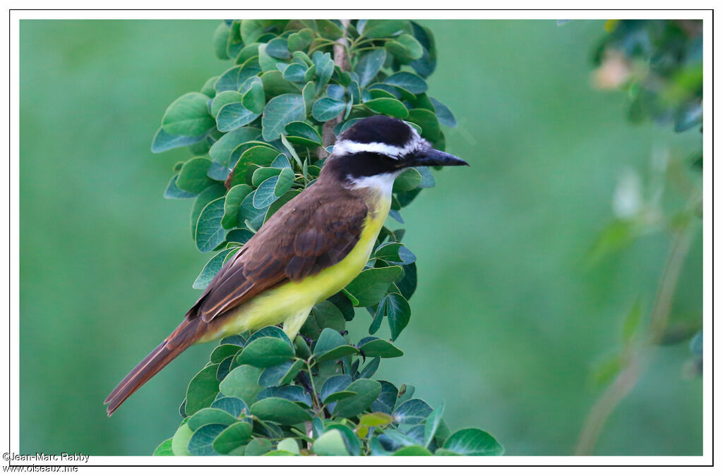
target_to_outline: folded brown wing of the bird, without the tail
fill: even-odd
[[[316,183],[278,210],[223,265],[187,319],[208,322],[265,290],[336,264],[359,241],[367,205],[341,187]]]

